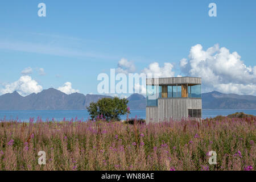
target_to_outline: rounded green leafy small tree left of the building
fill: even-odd
[[[87,107],[87,110],[92,119],[102,117],[106,119],[106,121],[120,121],[120,115],[130,113],[130,110],[127,109],[128,102],[129,101],[126,98],[102,98],[96,103],[91,102],[90,106]]]

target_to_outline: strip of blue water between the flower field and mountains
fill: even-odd
[[[216,117],[217,115],[228,115],[236,112],[243,112],[246,114],[256,115],[256,110],[243,110],[243,109],[203,109],[202,118]],[[146,110],[131,110],[129,118],[145,118]],[[89,118],[89,113],[86,110],[0,110],[0,119],[20,119],[21,121],[29,121],[29,118],[42,118],[46,121],[48,118],[51,120],[54,118],[56,121],[61,121],[64,117],[66,120]],[[121,119],[126,119],[126,115],[123,115]]]

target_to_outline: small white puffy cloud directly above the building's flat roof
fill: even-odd
[[[148,68],[144,68],[142,73],[150,77],[174,77],[174,71],[172,71],[174,65],[171,63],[164,63],[163,67],[159,66],[159,63],[151,63]]]

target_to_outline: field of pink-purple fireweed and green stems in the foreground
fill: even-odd
[[[64,119],[65,120],[65,119]],[[255,118],[0,122],[1,170],[255,170]],[[217,152],[210,165],[209,151]],[[46,165],[38,152],[46,152]]]

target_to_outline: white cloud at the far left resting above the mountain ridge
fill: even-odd
[[[38,93],[43,90],[42,86],[28,75],[22,76],[18,81],[10,84],[5,84],[4,88],[0,90],[1,94],[18,92],[22,96],[27,96],[31,93]]]

